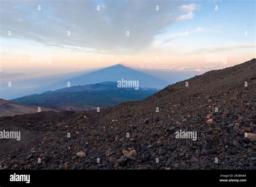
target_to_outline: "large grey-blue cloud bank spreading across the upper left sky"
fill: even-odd
[[[154,35],[176,21],[192,19],[199,9],[197,4],[167,0],[1,3],[2,37],[11,31],[11,37],[43,46],[104,54],[142,51]]]

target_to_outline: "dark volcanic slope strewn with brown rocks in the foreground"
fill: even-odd
[[[0,140],[0,169],[256,169],[255,107],[252,59],[99,112],[2,117],[21,140]]]

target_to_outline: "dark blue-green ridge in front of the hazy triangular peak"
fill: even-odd
[[[96,107],[113,106],[128,100],[144,99],[156,91],[158,89],[118,88],[117,82],[103,82],[46,91],[11,101],[52,107],[57,110],[86,111],[96,109]]]

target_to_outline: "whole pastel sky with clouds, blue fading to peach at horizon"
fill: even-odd
[[[255,57],[254,0],[0,2],[8,78],[118,63],[203,73]]]

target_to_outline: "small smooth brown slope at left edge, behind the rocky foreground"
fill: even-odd
[[[55,111],[57,110],[41,107],[41,112],[43,111]],[[0,117],[1,116],[15,116],[22,115],[26,113],[36,113],[38,112],[38,106],[31,105],[21,105],[8,100],[0,99]]]

